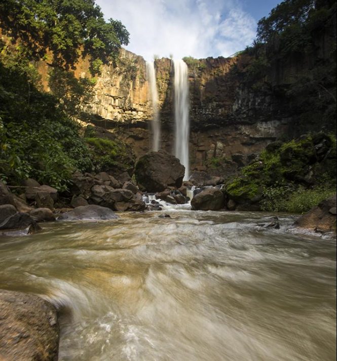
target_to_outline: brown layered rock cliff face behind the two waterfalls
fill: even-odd
[[[287,132],[288,119],[274,117],[268,92],[242,87],[233,66],[236,58],[194,60],[189,65],[190,158],[192,170],[213,173],[246,164],[268,143]],[[173,66],[156,60],[162,124],[162,148],[174,147]],[[137,156],[151,149],[152,105],[148,99],[145,61],[123,50],[117,67],[106,66],[86,110],[95,125],[130,144]]]

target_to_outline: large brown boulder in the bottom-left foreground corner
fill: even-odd
[[[56,361],[57,310],[41,297],[0,290],[0,359]]]

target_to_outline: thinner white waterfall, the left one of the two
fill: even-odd
[[[146,62],[146,75],[150,88],[150,96],[153,106],[153,121],[152,121],[152,133],[153,142],[152,150],[157,152],[160,147],[160,123],[159,123],[159,111],[158,111],[158,90],[156,82],[156,70],[154,62]]]

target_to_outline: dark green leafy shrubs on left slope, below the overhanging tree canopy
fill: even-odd
[[[64,190],[73,170],[90,170],[89,150],[58,99],[35,84],[39,74],[24,52],[0,53],[0,177],[33,177]]]

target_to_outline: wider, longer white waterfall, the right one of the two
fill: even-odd
[[[190,177],[189,162],[189,78],[188,66],[179,59],[174,62],[175,156],[185,166],[184,180]]]

